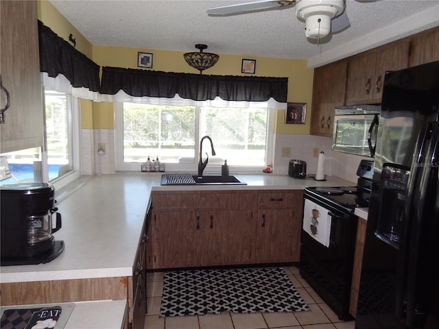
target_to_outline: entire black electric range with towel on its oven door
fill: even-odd
[[[361,160],[357,186],[309,187],[303,195],[300,275],[341,320],[349,313],[357,207],[367,207],[373,162]],[[323,239],[324,237],[324,239]]]

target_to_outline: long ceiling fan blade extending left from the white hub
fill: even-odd
[[[241,14],[244,12],[253,12],[254,10],[264,10],[276,7],[285,7],[296,3],[296,0],[261,0],[237,5],[224,5],[222,7],[209,8],[207,14],[213,16],[226,16],[230,14]]]

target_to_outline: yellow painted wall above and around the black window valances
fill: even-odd
[[[91,45],[67,19],[62,16],[47,0],[38,0],[38,19],[50,27],[58,36],[68,40],[69,34],[76,38],[76,49],[84,53],[100,66],[117,66],[131,69],[141,69],[137,66],[139,51],[152,53],[152,70],[180,73],[198,73],[183,59],[183,53],[198,51],[167,51],[160,49],[141,49],[128,47],[109,47]],[[206,52],[214,49],[206,49]],[[285,111],[276,111],[275,132],[279,134],[309,134],[311,120],[311,99],[313,86],[313,69],[307,68],[306,60],[283,58],[265,58],[257,56],[226,55],[219,53],[219,61],[204,74],[211,75],[246,75],[241,73],[241,60],[250,58],[256,60],[256,73],[261,77],[288,77],[287,101],[307,103],[305,125],[286,125]],[[251,76],[251,75],[249,75]],[[82,102],[81,104],[83,104]],[[82,111],[82,127],[95,129],[114,129],[114,112],[112,103],[93,103],[86,105]]]

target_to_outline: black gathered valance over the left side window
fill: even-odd
[[[62,74],[74,88],[84,87],[93,92],[99,90],[99,65],[41,21],[38,21],[38,39],[41,72],[46,72],[49,77]]]

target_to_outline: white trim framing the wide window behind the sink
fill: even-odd
[[[141,162],[123,162],[123,103],[114,103],[115,109],[115,169],[116,171],[140,171]],[[268,109],[267,117],[267,138],[265,141],[265,159],[266,164],[273,163],[274,157],[274,123],[276,110]],[[195,117],[195,136],[199,134],[200,111],[196,111]],[[198,154],[200,154],[200,139],[198,136],[195,140],[195,163],[166,163],[165,171],[169,172],[197,172],[198,171]],[[215,141],[214,141],[215,143]],[[152,155],[154,156],[154,155]],[[146,159],[145,159],[146,161]],[[230,166],[230,171],[234,173],[259,173],[261,166]],[[204,173],[220,173],[220,166],[208,166]]]

